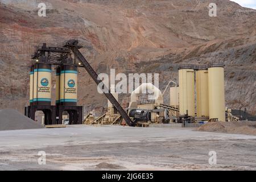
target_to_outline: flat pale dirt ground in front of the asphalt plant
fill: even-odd
[[[189,128],[69,126],[0,131],[1,170],[255,170],[256,136]],[[39,151],[46,164],[39,165]],[[216,164],[209,164],[215,151]]]

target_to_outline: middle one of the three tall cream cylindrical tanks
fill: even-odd
[[[209,89],[207,66],[200,65],[196,71],[196,115],[209,117]]]

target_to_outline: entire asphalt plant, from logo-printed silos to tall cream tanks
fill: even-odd
[[[122,119],[129,126],[144,123],[170,123],[195,121],[225,121],[224,64],[222,62],[208,65],[179,65],[179,82],[170,88],[170,104],[164,104],[163,94],[151,83],[142,83],[131,93],[127,111],[118,103],[115,85],[109,92],[108,111],[100,117],[92,112],[83,118],[82,106],[77,106],[77,68],[83,67],[96,84],[97,73],[90,67],[79,49],[77,40],[69,40],[63,47],[47,47],[46,43],[38,47],[32,56],[30,68],[30,106],[26,106],[25,115],[35,120],[35,112],[44,113],[44,124],[63,123],[63,111],[69,115],[69,124],[121,124]],[[73,56],[72,56],[73,53]],[[78,61],[77,61],[78,60]],[[51,105],[51,72],[56,69],[56,101]],[[104,87],[106,88],[106,86]],[[138,93],[151,90],[154,98],[138,100]]]

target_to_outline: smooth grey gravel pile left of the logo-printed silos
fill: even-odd
[[[14,109],[0,110],[0,130],[42,129],[43,125],[33,121]]]

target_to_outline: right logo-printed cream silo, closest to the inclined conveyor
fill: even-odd
[[[61,65],[60,69],[60,105],[76,106],[77,104],[77,67]]]

